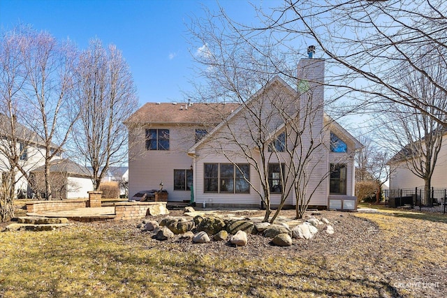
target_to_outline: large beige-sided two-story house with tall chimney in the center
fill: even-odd
[[[143,105],[126,121],[129,198],[163,186],[168,201],[193,195],[206,206],[261,207],[261,179],[268,177],[272,205],[279,204],[286,186],[294,187],[295,177],[281,185],[286,165],[302,159],[287,148],[300,140],[301,149],[312,148],[303,165],[309,204],[355,209],[353,153],[362,144],[323,112],[324,61],[302,59],[298,71],[298,91],[274,77],[242,104]],[[295,192],[285,200],[295,205]]]

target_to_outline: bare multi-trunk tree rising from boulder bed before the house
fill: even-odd
[[[223,118],[215,128],[219,131],[203,147],[224,154],[240,172],[241,161],[254,168],[260,185],[246,181],[265,205],[264,221],[269,221],[272,202],[278,208],[271,222],[294,192],[297,217],[302,217],[312,195],[330,174],[325,162],[321,174],[321,156],[328,151],[328,127],[323,124],[323,75],[296,75],[298,56],[282,52],[284,49],[268,36],[250,36],[223,11],[193,22],[191,33],[202,45],[194,53],[201,66],[198,76],[209,83],[196,85],[196,100],[240,103],[237,120]],[[322,67],[323,61],[319,62],[316,68]],[[324,66],[321,69],[324,71]],[[300,92],[290,87],[298,82],[305,85]],[[279,147],[275,145],[278,142]],[[269,174],[272,164],[277,167],[276,177]],[[273,198],[272,188],[277,187],[279,191]]]

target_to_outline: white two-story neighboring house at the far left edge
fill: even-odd
[[[8,170],[10,166],[8,159],[3,154],[9,150],[8,146],[8,135],[10,135],[10,119],[8,119],[4,114],[0,114],[0,172],[3,174]],[[16,135],[17,140],[17,151],[20,152],[20,163],[24,170],[29,174],[32,170],[35,170],[41,165],[45,164],[45,147],[44,142],[41,137],[38,137],[36,133],[29,130],[22,124],[16,123]],[[51,143],[52,149],[57,149],[57,145]],[[59,158],[59,155],[57,156]],[[17,170],[16,173],[15,190],[20,196],[31,197],[31,188],[29,187],[27,179],[23,176],[21,172]]]

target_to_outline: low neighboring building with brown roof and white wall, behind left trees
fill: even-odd
[[[36,188],[44,193],[44,166],[32,170],[31,179]],[[88,192],[94,189],[87,169],[68,159],[51,162],[50,185],[54,199],[88,198]]]

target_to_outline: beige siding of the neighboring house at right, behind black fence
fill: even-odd
[[[390,177],[390,189],[416,188],[424,186],[424,180],[410,170],[411,165],[399,163]],[[447,188],[447,135],[442,139],[437,163],[432,176],[432,187]]]

